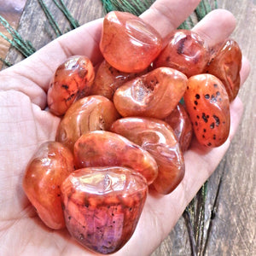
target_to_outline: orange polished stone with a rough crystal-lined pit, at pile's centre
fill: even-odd
[[[165,118],[177,106],[187,87],[179,71],[160,67],[126,82],[113,95],[115,108],[123,117]]]

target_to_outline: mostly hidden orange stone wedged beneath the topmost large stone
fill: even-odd
[[[146,73],[146,71],[143,73]],[[104,60],[97,69],[94,83],[91,86],[91,94],[102,95],[112,100],[115,90],[125,84],[126,81],[134,79],[143,73],[120,72]]]

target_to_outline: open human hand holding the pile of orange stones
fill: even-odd
[[[199,1],[158,0],[142,18],[163,37],[195,9]],[[152,22],[152,20],[156,20]],[[48,111],[46,91],[55,68],[70,55],[87,55],[96,65],[102,61],[98,49],[102,20],[90,22],[57,38],[37,53],[0,73],[0,254],[89,255],[67,230],[49,230],[34,211],[22,189],[26,164],[44,141],[54,140],[60,119]],[[235,19],[215,10],[195,26],[208,44],[230,36]],[[241,83],[249,66],[243,62]],[[117,254],[148,255],[154,251],[182,215],[184,208],[206,181],[230,145],[241,119],[242,105],[236,98],[230,106],[230,137],[219,148],[206,149],[196,141],[184,154],[186,174],[170,195],[148,195],[137,230]]]

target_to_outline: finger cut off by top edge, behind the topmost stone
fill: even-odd
[[[160,0],[152,4],[140,17],[160,32],[162,38],[176,29],[193,12],[199,0]],[[152,22],[154,21],[154,22]]]

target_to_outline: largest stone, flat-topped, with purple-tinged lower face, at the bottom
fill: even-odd
[[[148,195],[146,179],[125,167],[73,172],[61,186],[67,230],[96,253],[114,253],[131,238]]]

